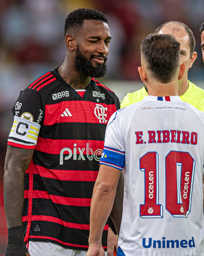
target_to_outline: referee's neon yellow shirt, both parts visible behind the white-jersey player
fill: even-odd
[[[121,101],[120,107],[124,108],[130,104],[138,102],[142,100],[145,96],[147,96],[147,91],[143,86],[143,88],[135,92],[127,93],[127,95]],[[189,104],[192,104],[197,109],[204,112],[204,90],[196,86],[194,83],[190,82],[189,80],[188,80],[188,89],[183,95],[180,96],[180,98],[183,101],[188,102]]]

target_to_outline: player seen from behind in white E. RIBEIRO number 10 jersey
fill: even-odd
[[[204,255],[204,113],[178,96],[180,43],[150,34],[141,44],[148,95],[109,119],[94,186],[87,256],[103,256],[102,231],[120,172],[125,186],[118,256]]]

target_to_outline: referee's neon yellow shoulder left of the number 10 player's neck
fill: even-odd
[[[145,90],[145,87],[143,86],[141,89],[127,93],[127,95],[123,98],[123,100],[120,103],[121,108],[124,108],[128,105],[131,105],[135,102],[138,102],[142,100],[147,95],[147,91]]]

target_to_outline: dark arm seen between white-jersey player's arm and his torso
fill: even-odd
[[[113,207],[110,213],[110,217],[113,221],[113,224],[116,228],[118,235],[120,232],[120,224],[122,220],[123,194],[124,194],[124,175],[123,175],[123,172],[121,172],[120,178],[118,180],[116,196],[115,196]]]

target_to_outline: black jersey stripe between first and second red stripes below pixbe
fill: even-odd
[[[33,174],[33,190],[52,191],[56,196],[92,198],[94,184],[93,181],[56,180]]]

